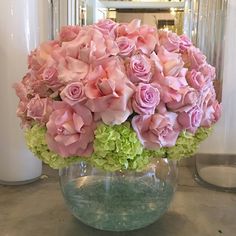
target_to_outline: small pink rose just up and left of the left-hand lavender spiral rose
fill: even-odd
[[[46,67],[42,74],[43,81],[52,90],[58,90],[63,84],[58,79],[58,72],[55,66]]]

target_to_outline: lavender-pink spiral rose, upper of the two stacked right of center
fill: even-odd
[[[132,56],[128,75],[133,83],[149,83],[153,75],[151,60],[142,54]]]

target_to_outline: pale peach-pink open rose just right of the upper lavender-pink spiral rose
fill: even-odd
[[[174,52],[168,52],[163,46],[159,47],[157,56],[163,65],[165,76],[178,76],[183,69],[184,62],[181,55]]]

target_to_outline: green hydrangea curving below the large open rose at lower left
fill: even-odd
[[[48,149],[46,139],[46,127],[38,124],[25,132],[25,140],[31,152],[44,163],[53,169],[60,169],[69,166],[71,163],[79,160],[79,157],[63,158],[55,152]]]

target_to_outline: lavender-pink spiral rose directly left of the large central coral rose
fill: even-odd
[[[81,82],[72,82],[61,91],[61,99],[73,106],[76,103],[85,102],[84,85]]]

